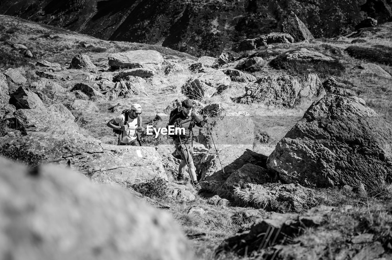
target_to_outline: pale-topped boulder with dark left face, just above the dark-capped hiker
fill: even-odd
[[[190,77],[182,86],[181,91],[191,99],[203,99],[225,90],[230,85],[230,77],[220,70],[198,73]]]

